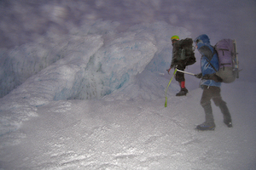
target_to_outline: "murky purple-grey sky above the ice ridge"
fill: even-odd
[[[47,31],[68,34],[72,28],[100,19],[118,21],[119,31],[137,23],[163,20],[188,29],[193,38],[206,33],[212,45],[219,39],[233,38],[238,44],[241,67],[256,64],[254,0],[2,0],[0,48],[33,41]],[[247,76],[255,71],[253,65],[243,71]]]

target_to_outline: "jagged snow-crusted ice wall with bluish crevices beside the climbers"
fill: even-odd
[[[97,20],[66,37],[49,32],[37,42],[2,49],[1,94],[6,95],[0,99],[0,135],[15,131],[37,116],[38,106],[54,100],[162,98],[166,78],[160,81],[152,74],[170,66],[170,37],[189,37],[189,31],[166,22],[139,24],[125,32],[115,31],[117,26]],[[150,86],[159,88],[148,94]]]

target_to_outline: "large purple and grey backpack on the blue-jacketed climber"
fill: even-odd
[[[234,82],[239,77],[236,40],[222,39],[214,46],[218,54],[219,70],[216,72],[223,82]]]

